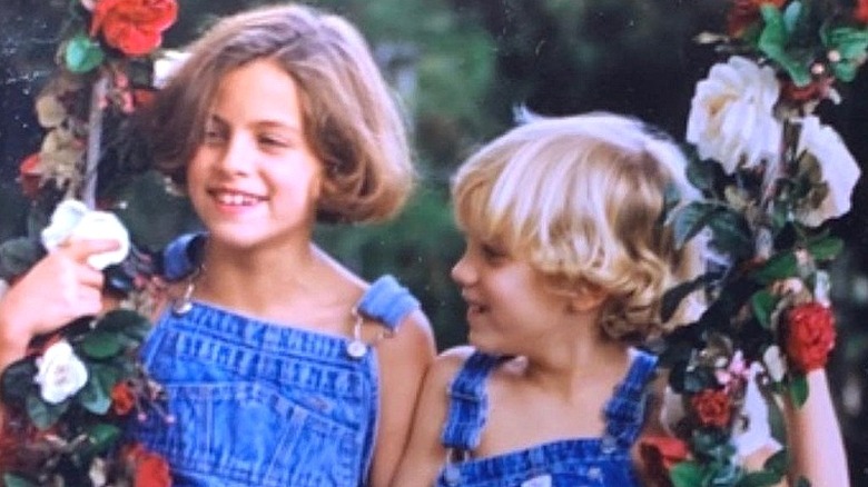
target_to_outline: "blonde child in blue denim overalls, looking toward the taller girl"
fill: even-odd
[[[679,149],[606,113],[533,119],[458,169],[466,250],[452,277],[472,346],[443,352],[428,371],[393,486],[640,481],[637,440],[664,434],[649,396],[665,380],[631,344],[702,309],[691,298],[671,322],[659,319],[663,292],[701,270],[701,241],[677,249],[659,225],[671,187],[682,203],[696,196]],[[828,390],[811,387],[830,411]],[[822,421],[808,423],[837,428],[834,415]],[[739,453],[761,466],[770,441],[752,444]],[[840,449],[819,457],[844,461]],[[798,467],[813,485],[845,485]]]

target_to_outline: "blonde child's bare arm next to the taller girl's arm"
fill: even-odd
[[[437,357],[425,376],[410,443],[392,487],[431,486],[445,464],[446,449],[441,443],[441,433],[448,409],[448,385],[470,355],[466,347],[457,350],[448,350]]]

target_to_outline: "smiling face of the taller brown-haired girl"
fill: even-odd
[[[306,242],[323,170],[304,137],[295,81],[267,60],[228,72],[187,178],[211,238],[245,248]]]

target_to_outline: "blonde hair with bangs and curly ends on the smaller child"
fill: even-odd
[[[641,341],[696,318],[698,297],[662,322],[662,296],[702,270],[701,239],[675,248],[667,193],[697,198],[685,160],[633,118],[586,113],[527,120],[466,161],[453,180],[462,229],[525,259],[555,290],[596,289],[602,327]]]

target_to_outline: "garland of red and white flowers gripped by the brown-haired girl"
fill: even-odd
[[[112,310],[37,337],[10,365],[0,389],[0,473],[6,486],[168,486],[166,461],[125,438],[130,418],[161,413],[158,385],[138,362],[150,321],[157,262],[98,197],[112,179],[107,133],[147,103],[169,63],[158,48],[176,0],[70,0],[58,72],[36,101],[46,135],[20,166],[32,200],[27,235],[0,245],[0,279],[14,282],[47,251],[75,236],[110,238],[117,252],[91,256],[103,269]],[[170,62],[170,61],[169,61]],[[114,168],[115,172],[107,168]],[[106,191],[100,191],[100,193]]]

